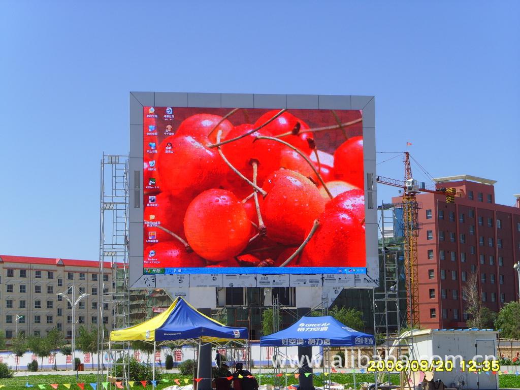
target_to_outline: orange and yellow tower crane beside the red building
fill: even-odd
[[[454,202],[454,188],[439,188],[427,186],[415,180],[412,176],[412,168],[410,166],[410,154],[405,154],[405,180],[391,179],[383,176],[376,176],[376,181],[388,186],[401,188],[402,192],[402,219],[403,231],[405,239],[405,271],[407,281],[407,310],[409,326],[413,328],[419,324],[419,274],[418,274],[418,258],[417,258],[417,237],[419,236],[418,210],[419,206],[415,196],[420,192],[430,192],[436,194],[444,194],[446,203]]]

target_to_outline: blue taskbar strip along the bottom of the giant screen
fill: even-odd
[[[203,267],[203,268],[145,268],[145,275],[190,274],[261,274],[261,275],[315,275],[366,274],[366,267]]]

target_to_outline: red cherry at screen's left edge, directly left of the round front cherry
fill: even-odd
[[[175,239],[170,233],[159,229],[157,226],[162,226],[180,237],[185,237],[184,214],[186,214],[190,201],[189,198],[175,198],[165,192],[156,195],[155,202],[149,202],[149,196],[145,196],[145,240],[148,238],[149,231],[155,231],[156,238],[159,241]]]

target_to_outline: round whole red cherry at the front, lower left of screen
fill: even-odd
[[[223,261],[238,255],[248,244],[251,220],[231,191],[211,189],[191,201],[184,217],[184,232],[200,256]]]

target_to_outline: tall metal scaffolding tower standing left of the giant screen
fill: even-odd
[[[103,154],[100,185],[97,381],[115,387],[108,379],[110,374],[128,386],[130,344],[122,342],[110,350],[108,335],[113,329],[130,325],[127,155]],[[112,328],[106,329],[106,310],[110,307]]]

